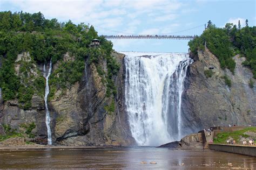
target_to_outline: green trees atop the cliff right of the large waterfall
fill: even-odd
[[[245,56],[246,61],[242,64],[251,68],[256,79],[256,26],[248,26],[248,20],[245,25],[241,28],[239,21],[238,26],[227,23],[224,28],[219,28],[209,20],[203,34],[188,45],[191,52],[197,54],[198,50],[204,50],[206,42],[206,47],[219,59],[221,68],[228,68],[233,74],[235,61],[232,57],[235,54]]]

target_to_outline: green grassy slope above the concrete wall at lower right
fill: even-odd
[[[219,134],[217,134],[217,137],[213,139],[213,143],[215,143],[215,144],[226,144],[226,140],[230,137],[232,137],[235,141],[238,142],[241,137],[245,137],[245,138],[250,137],[247,134],[244,134],[247,131],[256,133],[256,128],[255,127],[248,127],[248,128],[243,129],[243,130],[219,133]]]

